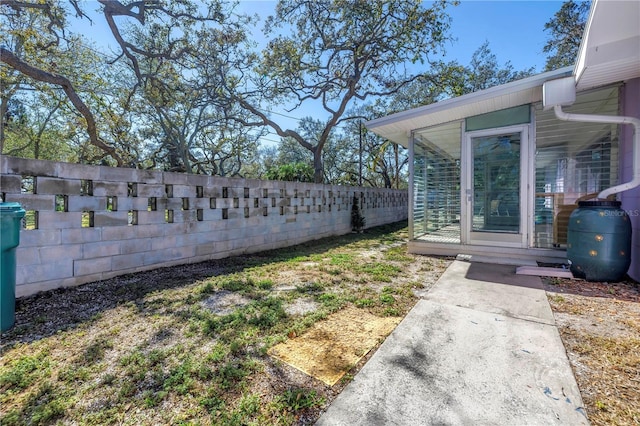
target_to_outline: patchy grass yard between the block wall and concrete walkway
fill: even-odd
[[[404,316],[448,265],[407,255],[405,226],[19,300],[0,423],[312,424],[359,366],[331,387],[267,350],[346,306]],[[237,306],[216,311],[223,294]]]

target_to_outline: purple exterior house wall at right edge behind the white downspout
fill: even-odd
[[[621,114],[640,118],[640,78],[628,81],[624,85]],[[628,182],[633,177],[633,126],[621,126],[620,134],[620,182]],[[631,266],[629,276],[640,281],[640,187],[619,194],[622,208],[631,219]]]

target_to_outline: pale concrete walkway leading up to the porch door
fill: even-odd
[[[586,425],[540,278],[454,261],[317,425]]]

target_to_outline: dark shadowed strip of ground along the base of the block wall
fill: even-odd
[[[145,296],[159,290],[186,287],[210,277],[239,273],[246,268],[321,254],[346,244],[377,240],[381,235],[400,231],[406,226],[406,221],[396,222],[367,229],[364,233],[323,238],[292,247],[196,264],[158,268],[20,298],[16,301],[15,326],[2,334],[0,355],[17,343],[40,340],[91,323],[101,312],[121,304],[134,303],[141,310],[147,309],[149,306],[146,306]]]

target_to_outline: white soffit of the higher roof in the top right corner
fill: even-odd
[[[640,77],[640,1],[594,0],[574,75],[578,90]]]

